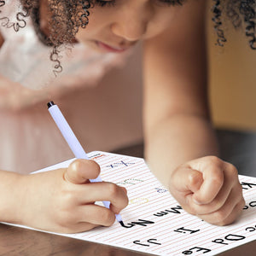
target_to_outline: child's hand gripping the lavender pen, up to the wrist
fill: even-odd
[[[110,226],[128,204],[125,188],[114,183],[89,183],[100,167],[92,160],[74,160],[68,168],[22,177],[20,222],[40,230],[73,233]],[[110,209],[95,201],[110,201]]]

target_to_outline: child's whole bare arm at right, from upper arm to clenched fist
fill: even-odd
[[[169,30],[144,44],[145,154],[186,211],[229,224],[244,204],[236,168],[201,158],[218,155],[207,105],[205,2],[185,3]]]

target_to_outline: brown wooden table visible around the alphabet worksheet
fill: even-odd
[[[256,135],[238,131],[218,131],[218,138],[222,158],[238,166],[240,174],[256,177]],[[115,153],[142,157],[143,145],[119,149]],[[256,241],[253,241],[219,255],[255,254]],[[0,255],[143,256],[146,254],[0,224]]]

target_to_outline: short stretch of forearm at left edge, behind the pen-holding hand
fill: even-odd
[[[15,172],[0,171],[0,221],[20,223],[22,180],[25,176]]]

